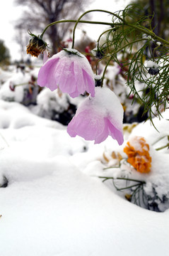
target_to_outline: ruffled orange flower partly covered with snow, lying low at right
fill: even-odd
[[[132,144],[132,145],[131,145]],[[128,163],[134,166],[136,171],[147,174],[151,171],[151,156],[149,145],[143,137],[135,137],[132,142],[127,142],[124,153],[128,156]]]

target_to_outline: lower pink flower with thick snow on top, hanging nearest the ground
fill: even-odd
[[[114,92],[107,87],[96,87],[95,97],[82,102],[67,127],[71,137],[103,142],[108,135],[118,144],[124,142],[122,134],[123,108]]]

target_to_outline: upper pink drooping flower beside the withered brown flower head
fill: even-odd
[[[84,55],[74,49],[64,49],[49,58],[40,68],[37,84],[77,97],[84,92],[95,96],[95,81],[91,65]]]

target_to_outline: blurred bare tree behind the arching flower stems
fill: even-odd
[[[88,1],[81,0],[16,0],[16,4],[23,5],[25,11],[18,19],[16,28],[21,35],[22,31],[41,33],[49,23],[61,19],[76,19],[83,12]],[[52,53],[57,53],[60,42],[73,26],[72,23],[57,24],[47,30],[48,41],[51,42]],[[19,42],[19,40],[18,40]],[[23,41],[20,44],[23,45]],[[22,47],[22,46],[21,46]]]

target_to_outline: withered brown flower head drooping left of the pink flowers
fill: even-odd
[[[29,34],[30,36],[32,36],[32,38],[30,38],[26,51],[28,54],[38,57],[38,55],[40,55],[40,53],[43,53],[46,49],[47,43],[45,43],[45,41],[43,41],[42,38],[40,38],[39,36],[35,36],[33,35],[33,33]]]

